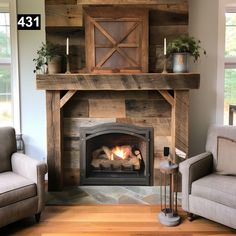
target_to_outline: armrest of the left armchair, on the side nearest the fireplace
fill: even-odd
[[[22,153],[13,153],[11,164],[14,173],[32,180],[37,185],[38,213],[41,212],[45,203],[46,163],[30,158]]]

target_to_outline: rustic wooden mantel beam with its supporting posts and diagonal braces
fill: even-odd
[[[62,108],[77,91],[158,91],[171,105],[172,153],[188,150],[189,90],[199,88],[197,73],[37,75],[36,85],[46,90],[49,191],[63,188]]]

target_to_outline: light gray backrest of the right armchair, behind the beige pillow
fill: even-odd
[[[206,151],[213,154],[215,170],[217,170],[219,137],[229,139],[231,141],[236,141],[236,126],[212,125],[208,129]],[[222,151],[219,153],[221,155],[220,158],[222,159]]]

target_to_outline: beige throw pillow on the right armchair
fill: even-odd
[[[222,175],[236,175],[236,140],[217,137],[216,171]]]

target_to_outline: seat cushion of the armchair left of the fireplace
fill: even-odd
[[[0,207],[34,197],[36,184],[11,171],[0,173]]]

